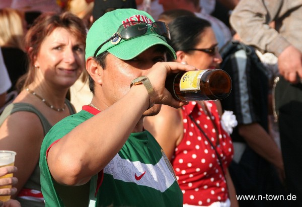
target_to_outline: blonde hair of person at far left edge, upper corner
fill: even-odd
[[[23,15],[12,8],[0,9],[0,46],[23,49]]]

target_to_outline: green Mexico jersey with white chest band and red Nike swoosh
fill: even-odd
[[[65,206],[62,201],[65,199],[61,199],[58,195],[54,187],[55,181],[48,170],[47,149],[72,128],[97,113],[89,106],[84,106],[84,109],[57,123],[46,135],[42,144],[41,186],[46,206]],[[100,174],[90,181],[89,206],[183,205],[183,194],[173,168],[160,145],[148,131],[131,133],[120,152],[103,171],[101,185],[98,183]],[[74,195],[74,197],[78,196],[80,195]],[[89,200],[87,196],[82,199]]]

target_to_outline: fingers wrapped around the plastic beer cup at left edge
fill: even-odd
[[[0,177],[17,172],[16,166],[0,167]],[[15,185],[18,182],[16,177],[0,178],[0,186]],[[17,188],[1,188],[0,195],[13,195],[17,192]],[[6,202],[0,201],[0,207],[21,207],[18,200],[10,199]]]

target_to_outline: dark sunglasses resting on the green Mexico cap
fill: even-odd
[[[130,26],[129,26],[130,25]],[[94,57],[96,57],[98,51],[109,41],[112,41],[112,44],[116,42],[117,44],[119,39],[128,40],[133,37],[144,35],[148,27],[151,27],[151,31],[155,31],[159,35],[171,39],[170,31],[168,28],[168,25],[165,22],[153,22],[152,24],[147,24],[145,22],[141,21],[132,21],[127,22],[119,26],[117,29],[117,32],[114,33],[109,39],[107,39],[105,42],[103,42],[95,51]]]

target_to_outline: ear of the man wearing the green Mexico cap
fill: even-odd
[[[86,70],[96,84],[102,85],[103,67],[93,57],[86,60]]]

